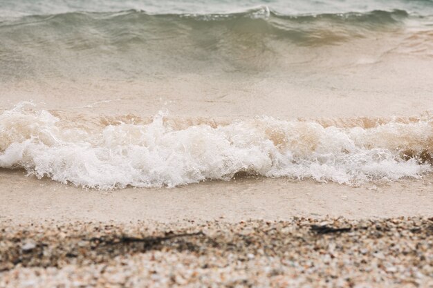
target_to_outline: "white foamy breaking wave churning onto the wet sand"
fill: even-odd
[[[430,116],[368,128],[266,116],[188,126],[166,117],[95,124],[19,104],[0,115],[0,167],[95,189],[173,187],[237,173],[362,185],[432,172]]]

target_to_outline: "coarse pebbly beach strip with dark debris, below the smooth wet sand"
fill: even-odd
[[[433,218],[2,221],[0,287],[432,287]]]

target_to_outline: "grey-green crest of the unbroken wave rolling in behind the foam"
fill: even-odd
[[[353,37],[365,37],[371,30],[395,30],[409,17],[405,10],[374,10],[371,12],[344,12],[327,14],[283,15],[268,6],[228,14],[151,14],[142,10],[120,12],[67,12],[56,15],[32,15],[0,21],[2,31],[12,30],[9,37],[35,39],[47,36],[44,43],[59,41],[74,32],[75,41],[104,37],[107,42],[127,44],[152,39],[177,37],[185,34],[204,37],[212,30],[223,39],[233,35],[254,35],[286,39],[295,44],[332,44]],[[35,29],[37,28],[37,29]],[[72,30],[71,30],[72,29]],[[35,35],[29,35],[31,30]],[[191,32],[191,30],[193,32]],[[11,31],[11,32],[12,32]],[[50,32],[47,34],[47,32]],[[70,40],[70,39],[69,39]]]

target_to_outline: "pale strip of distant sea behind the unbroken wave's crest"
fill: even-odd
[[[303,15],[311,13],[320,15],[324,13],[367,12],[373,10],[406,10],[418,15],[431,15],[431,0],[365,0],[356,1],[301,1],[295,0],[288,3],[284,0],[185,0],[185,1],[155,1],[155,0],[3,0],[0,6],[1,16],[22,15],[55,15],[66,12],[116,12],[125,10],[145,10],[150,14],[233,14],[245,12],[250,8],[268,6],[281,15]]]

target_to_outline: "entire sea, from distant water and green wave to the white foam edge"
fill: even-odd
[[[432,1],[3,1],[0,168],[99,189],[419,179],[432,27]]]

